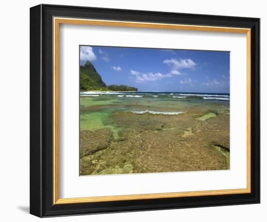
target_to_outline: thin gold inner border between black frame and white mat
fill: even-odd
[[[123,26],[139,27],[153,29],[179,29],[209,32],[228,32],[247,34],[247,187],[240,189],[207,190],[207,191],[189,191],[189,192],[171,192],[171,193],[151,193],[151,194],[133,194],[119,196],[100,196],[83,198],[59,198],[59,25],[60,24],[79,24],[79,25],[101,25],[101,26]],[[199,26],[199,25],[181,25],[150,22],[133,22],[117,20],[99,20],[99,19],[73,19],[73,18],[53,18],[53,202],[54,204],[66,203],[90,203],[107,201],[125,201],[125,200],[144,200],[158,198],[175,197],[193,197],[206,195],[222,194],[243,194],[251,192],[251,107],[250,107],[250,87],[251,87],[251,30],[248,28]]]

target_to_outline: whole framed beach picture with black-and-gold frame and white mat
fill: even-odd
[[[260,203],[260,19],[30,10],[30,213]]]

